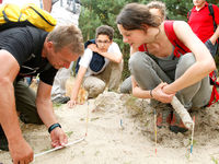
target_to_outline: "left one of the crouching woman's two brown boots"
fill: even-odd
[[[162,128],[170,126],[171,124],[171,112],[162,110],[162,113],[158,113],[157,115],[157,127]]]

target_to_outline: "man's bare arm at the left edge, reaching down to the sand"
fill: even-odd
[[[33,161],[33,150],[22,137],[13,87],[20,66],[7,50],[0,50],[0,124],[7,136],[13,163],[28,163]]]

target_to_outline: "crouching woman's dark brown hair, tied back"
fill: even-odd
[[[143,25],[158,27],[161,19],[152,15],[146,4],[128,3],[117,15],[116,23],[123,25],[127,31],[145,30]]]

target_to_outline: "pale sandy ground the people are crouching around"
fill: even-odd
[[[164,107],[165,109],[170,107]],[[146,99],[104,92],[83,105],[55,106],[55,114],[69,142],[84,141],[35,157],[34,164],[217,164],[219,161],[219,109],[193,112],[196,116],[193,155],[189,156],[191,131],[173,133],[158,129],[154,143],[154,108]],[[88,115],[89,112],[89,115]],[[87,121],[87,118],[89,121]],[[50,138],[44,126],[21,122],[24,138],[34,153],[47,151]],[[157,154],[155,154],[157,148]],[[9,152],[0,152],[0,163],[10,164]]]

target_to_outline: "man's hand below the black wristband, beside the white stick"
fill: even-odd
[[[51,147],[65,147],[68,143],[68,138],[61,128],[56,128],[50,132]]]

